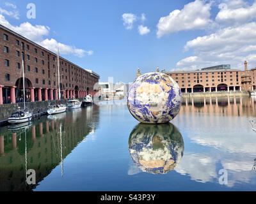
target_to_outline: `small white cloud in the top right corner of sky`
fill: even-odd
[[[253,3],[252,6],[243,4],[243,7],[234,7],[229,4],[221,3],[219,8],[220,11],[216,16],[217,22],[241,24],[256,18],[256,2]]]

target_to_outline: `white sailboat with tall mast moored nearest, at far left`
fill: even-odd
[[[26,100],[25,100],[25,75],[24,75],[24,61],[23,61],[23,54],[22,54],[22,79],[23,79],[23,104],[24,109],[20,109],[18,107],[18,110],[8,118],[8,122],[10,124],[18,124],[22,122],[28,122],[32,119],[32,113],[29,112],[29,110],[26,110]]]

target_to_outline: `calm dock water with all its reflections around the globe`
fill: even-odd
[[[255,105],[184,99],[172,123],[156,126],[108,101],[0,128],[0,191],[255,191]]]

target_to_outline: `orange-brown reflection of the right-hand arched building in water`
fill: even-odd
[[[255,117],[256,101],[254,98],[183,98],[180,113],[209,113],[222,116],[252,116]],[[180,114],[179,113],[179,114]]]

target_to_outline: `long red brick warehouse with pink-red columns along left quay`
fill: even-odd
[[[20,34],[0,25],[0,105],[22,98],[22,55],[24,56],[26,100],[58,99],[57,56]],[[95,94],[99,75],[60,57],[61,98]]]

